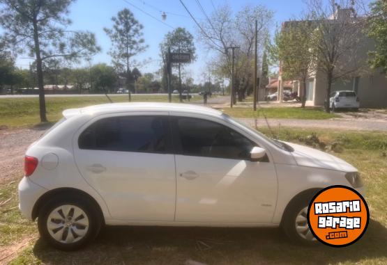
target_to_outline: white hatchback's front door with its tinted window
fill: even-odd
[[[277,179],[270,155],[234,129],[199,118],[172,118],[176,154],[176,221],[271,223]]]

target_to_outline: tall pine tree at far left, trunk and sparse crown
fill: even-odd
[[[86,31],[68,31],[68,6],[74,0],[0,0],[0,25],[6,40],[19,54],[35,58],[38,75],[40,121],[46,122],[43,61],[91,56],[99,51],[96,38]]]

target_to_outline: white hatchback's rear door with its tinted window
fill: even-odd
[[[174,220],[176,172],[164,114],[96,118],[75,135],[79,171],[113,219]]]

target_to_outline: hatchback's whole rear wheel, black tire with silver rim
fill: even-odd
[[[75,250],[94,239],[101,220],[93,204],[81,196],[53,198],[40,210],[40,236],[54,248]]]

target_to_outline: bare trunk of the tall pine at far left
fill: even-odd
[[[38,23],[36,22],[36,19],[33,21],[33,41],[35,42],[36,73],[38,74],[40,122],[47,122],[42,58],[40,57]]]

